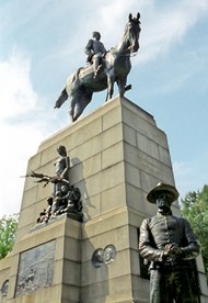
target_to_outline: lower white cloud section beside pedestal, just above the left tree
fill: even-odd
[[[0,216],[19,212],[28,158],[36,153],[42,135],[35,125],[0,125],[1,138],[1,207]]]

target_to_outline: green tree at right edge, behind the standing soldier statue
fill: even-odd
[[[185,216],[201,245],[205,272],[208,280],[208,186],[199,191],[188,192],[182,199],[182,215]]]

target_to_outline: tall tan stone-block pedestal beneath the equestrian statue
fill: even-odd
[[[147,192],[159,181],[174,186],[164,132],[152,115],[116,98],[43,142],[28,171],[53,176],[59,144],[70,157],[70,183],[82,194],[83,223],[65,214],[35,226],[51,186],[27,178],[15,246],[0,262],[0,285],[9,280],[0,302],[149,302],[138,234],[143,217],[157,212]],[[177,203],[172,210],[180,214]],[[207,300],[201,259],[199,265],[201,300]]]

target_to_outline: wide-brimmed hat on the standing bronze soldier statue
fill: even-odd
[[[155,203],[155,198],[157,198],[157,194],[161,191],[166,191],[171,194],[171,203],[174,202],[175,200],[177,200],[180,193],[178,191],[176,190],[176,188],[170,186],[170,184],[166,184],[166,183],[162,183],[162,182],[159,182],[157,184],[155,188],[153,188],[147,195],[147,200],[150,202],[150,203]]]

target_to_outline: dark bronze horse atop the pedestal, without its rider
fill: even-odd
[[[140,13],[137,14],[137,18],[129,14],[123,38],[116,47],[106,53],[102,59],[102,70],[96,78],[93,77],[92,65],[79,68],[77,72],[69,77],[65,89],[56,101],[55,109],[59,109],[70,97],[69,114],[72,122],[74,122],[91,102],[93,92],[107,89],[107,101],[113,97],[114,83],[117,82],[118,93],[124,97],[125,91],[129,89],[129,86],[126,87],[126,82],[131,68],[130,55],[139,49],[139,34],[141,31],[139,19]]]

